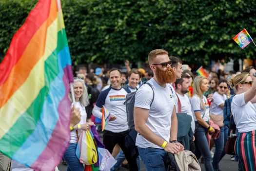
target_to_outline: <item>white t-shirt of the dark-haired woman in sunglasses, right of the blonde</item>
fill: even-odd
[[[213,102],[211,103],[210,113],[213,115],[223,115],[223,109],[219,105],[224,104],[227,99],[226,94],[219,94],[217,91],[213,94]]]

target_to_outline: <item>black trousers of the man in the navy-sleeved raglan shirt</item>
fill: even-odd
[[[106,149],[109,150],[110,153],[113,152],[115,145],[118,144],[120,148],[123,150],[125,158],[129,163],[129,170],[138,171],[138,167],[136,163],[137,156],[131,157],[129,155],[128,149],[125,147],[125,144],[124,144],[125,136],[128,133],[129,133],[128,130],[124,132],[118,132],[118,133],[105,130],[103,134],[103,144],[105,145]]]

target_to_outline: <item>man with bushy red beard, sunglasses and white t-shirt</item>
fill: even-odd
[[[167,51],[151,51],[148,62],[154,73],[147,82],[152,88],[144,84],[135,95],[136,146],[148,171],[166,171],[167,152],[174,154],[184,149],[177,142],[175,90],[171,86],[176,76]]]

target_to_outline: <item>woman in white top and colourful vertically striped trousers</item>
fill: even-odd
[[[241,73],[230,80],[236,95],[231,103],[236,129],[235,151],[239,159],[239,171],[256,171],[256,81],[249,73]]]

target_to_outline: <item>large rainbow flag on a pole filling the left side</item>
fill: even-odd
[[[0,64],[0,151],[52,171],[70,140],[73,82],[60,1],[39,0]]]

